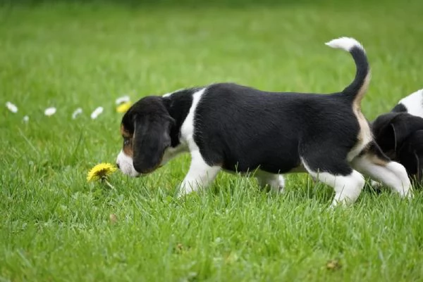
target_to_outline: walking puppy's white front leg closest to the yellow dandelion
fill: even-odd
[[[191,165],[188,174],[180,184],[178,197],[184,196],[192,191],[198,191],[200,187],[207,188],[210,182],[214,180],[221,167],[209,166],[200,151],[191,152]]]

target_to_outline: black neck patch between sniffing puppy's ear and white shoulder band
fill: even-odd
[[[190,112],[192,94],[198,89],[182,89],[163,96],[163,102],[169,115],[175,120],[171,127],[171,146],[175,148],[180,144],[180,127]]]

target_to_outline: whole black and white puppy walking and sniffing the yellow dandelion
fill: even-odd
[[[361,173],[411,196],[405,168],[381,152],[360,110],[370,80],[362,45],[347,37],[327,45],[355,60],[355,79],[343,91],[271,93],[221,83],[147,96],[123,116],[118,167],[138,177],[189,152],[180,195],[206,187],[223,169],[255,172],[260,186],[276,191],[283,190],[281,174],[308,172],[334,188],[333,205],[357,199]]]

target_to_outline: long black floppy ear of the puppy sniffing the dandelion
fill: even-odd
[[[152,172],[171,146],[169,134],[174,120],[168,114],[136,116],[133,137],[133,165],[142,174]]]

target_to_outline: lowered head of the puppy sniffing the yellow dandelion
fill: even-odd
[[[166,148],[171,146],[173,119],[162,99],[142,98],[123,115],[123,148],[116,164],[124,174],[139,177],[153,172],[160,166]]]

